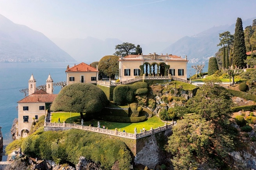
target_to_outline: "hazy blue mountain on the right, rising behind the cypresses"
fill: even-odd
[[[245,28],[251,25],[253,19],[255,18],[243,21],[243,27]],[[211,56],[215,56],[215,53],[219,50],[220,47],[217,47],[217,44],[219,44],[219,33],[225,31],[229,31],[233,34],[235,32],[235,23],[230,26],[215,26],[197,35],[183,37],[165,48],[162,53],[167,52],[183,57],[187,55],[191,63],[207,62],[208,59]]]

